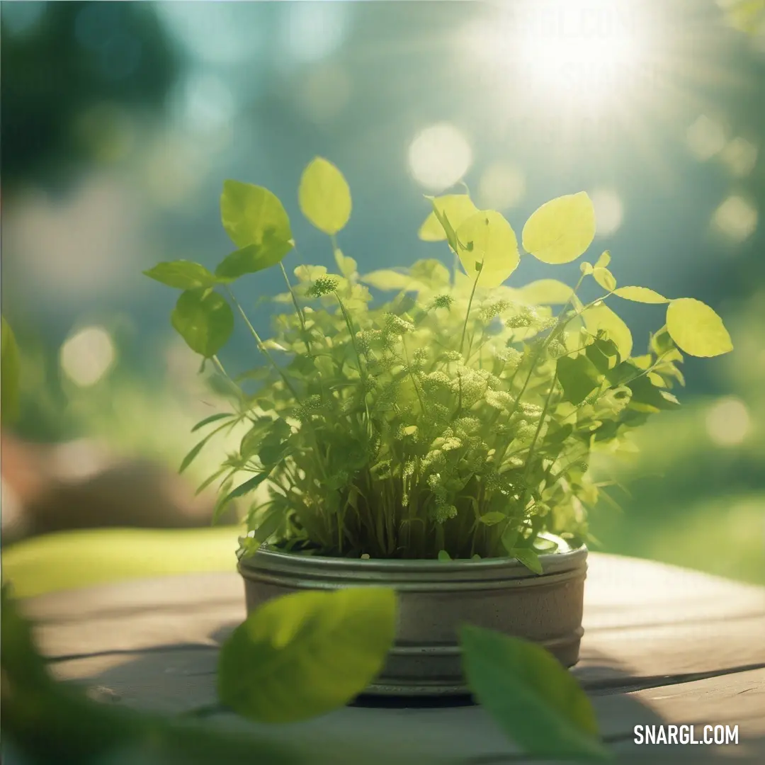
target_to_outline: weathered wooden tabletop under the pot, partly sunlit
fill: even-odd
[[[235,574],[175,575],[31,598],[55,673],[120,704],[181,713],[213,704],[217,648],[245,615]],[[765,588],[591,555],[581,662],[607,742],[626,762],[765,763]],[[233,715],[213,717],[232,723]],[[353,706],[274,737],[411,741],[471,765],[524,762],[477,706]],[[737,746],[637,746],[636,725],[737,725]]]

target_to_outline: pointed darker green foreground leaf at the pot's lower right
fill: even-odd
[[[524,752],[551,759],[610,759],[590,700],[551,653],[470,625],[461,627],[460,643],[470,690]]]

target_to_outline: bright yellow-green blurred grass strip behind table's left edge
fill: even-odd
[[[93,529],[49,534],[3,551],[3,583],[18,597],[111,581],[236,571],[240,529]]]

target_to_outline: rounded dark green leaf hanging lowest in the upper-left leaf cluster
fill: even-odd
[[[231,337],[234,314],[217,292],[187,290],[175,304],[171,323],[191,350],[209,359]]]

